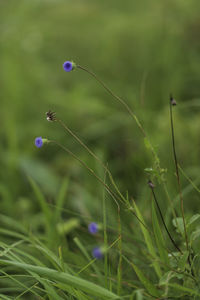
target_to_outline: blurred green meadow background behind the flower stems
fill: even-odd
[[[172,92],[178,103],[174,117],[179,162],[198,185],[199,9],[195,0],[0,1],[1,213],[38,224],[42,216],[27,179],[31,176],[52,205],[61,182],[69,178],[65,208],[101,217],[102,186],[56,146],[34,146],[37,136],[56,139],[103,176],[101,167],[59,124],[46,121],[45,112],[51,109],[108,162],[121,192],[128,190],[148,214],[144,169],[153,166],[153,159],[141,132],[88,74],[65,73],[66,60],[94,71],[127,101],[167,169],[174,199]],[[192,213],[199,199],[187,185],[182,178],[185,205]]]

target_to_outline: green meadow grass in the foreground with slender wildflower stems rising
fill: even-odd
[[[128,194],[127,196],[123,196],[115,183],[108,166],[106,166],[63,121],[57,118],[55,112],[49,110],[48,113],[46,113],[47,120],[52,123],[60,123],[67,133],[69,133],[104,170],[104,179],[101,179],[101,175],[98,175],[87,163],[60,142],[48,140],[47,138],[42,139],[41,137],[35,140],[35,145],[38,148],[45,147],[45,144],[47,144],[47,147],[50,144],[60,147],[73,159],[78,161],[78,163],[80,163],[82,167],[101,184],[104,191],[104,194],[102,195],[103,232],[102,234],[100,232],[98,233],[98,243],[100,243],[101,247],[95,248],[99,249],[99,254],[93,250],[94,259],[92,259],[91,254],[88,253],[85,239],[83,240],[80,235],[73,239],[74,245],[79,249],[80,253],[73,253],[73,250],[70,250],[71,243],[68,243],[66,236],[74,229],[79,228],[81,221],[80,217],[70,218],[67,221],[62,220],[61,213],[63,211],[65,194],[68,188],[68,180],[65,179],[61,185],[60,192],[58,193],[54,208],[52,209],[37,183],[29,177],[30,185],[38,200],[43,215],[43,234],[40,238],[36,238],[31,231],[31,224],[27,231],[17,221],[2,216],[2,219],[12,227],[12,230],[1,229],[1,233],[8,237],[18,239],[18,241],[11,244],[1,243],[3,259],[0,260],[0,264],[2,265],[3,282],[5,286],[9,286],[9,288],[3,287],[1,289],[3,292],[2,297],[10,299],[10,295],[7,296],[8,294],[19,293],[16,297],[17,299],[20,299],[27,294],[41,299],[46,297],[49,299],[152,299],[157,297],[159,299],[173,299],[180,297],[182,299],[187,299],[187,297],[197,299],[200,297],[200,293],[198,268],[195,263],[198,258],[198,250],[195,249],[195,242],[198,240],[199,236],[198,220],[200,219],[200,214],[196,214],[187,220],[184,215],[183,193],[175,147],[172,113],[172,107],[176,105],[176,101],[170,96],[172,149],[182,212],[181,217],[176,217],[173,220],[173,224],[179,235],[178,241],[175,241],[174,237],[175,228],[173,233],[170,233],[165,223],[155,193],[156,188],[151,181],[153,180],[160,185],[164,185],[166,189],[166,180],[162,171],[163,169],[160,166],[160,159],[153,148],[150,139],[147,137],[144,128],[126,102],[107,88],[94,73],[79,66],[75,68],[81,68],[92,75],[92,77],[94,77],[116,100],[119,100],[122,106],[125,106],[128,113],[130,113],[136,121],[144,136],[144,146],[150,151],[154,161],[154,168],[147,170],[149,174],[148,185],[152,191],[153,200],[151,201],[151,220],[153,226],[151,228],[149,224],[146,224],[144,216],[133,198],[129,197]],[[72,70],[70,69],[70,71]],[[47,151],[48,148],[45,150]],[[186,179],[188,180],[188,177],[186,177]],[[195,185],[191,179],[189,179],[189,182],[190,184],[192,183],[193,186]],[[108,201],[114,201],[116,211],[116,237],[111,244],[109,244],[110,238],[108,240],[107,235],[109,231],[107,219],[109,216],[107,214],[106,197],[108,198]],[[139,247],[139,253],[135,254],[135,251],[131,253],[131,248],[129,249],[130,246],[126,245],[126,237],[124,237],[122,231],[121,210],[125,210],[126,214],[132,214],[138,221],[142,237],[138,238],[136,248],[138,244],[143,244],[140,246],[141,248]],[[158,214],[160,217],[158,217]],[[16,231],[13,229],[18,230]],[[96,234],[97,231],[94,233]],[[168,239],[170,239],[172,243],[170,248],[173,249],[168,248],[169,243],[164,238],[166,235],[168,235]],[[54,249],[55,251],[56,245],[61,243],[62,240],[64,245],[62,245],[62,247],[57,246],[58,253],[55,255],[51,249]],[[30,253],[27,253],[26,247],[31,249],[31,251],[29,250]],[[36,257],[34,251],[38,252]],[[112,251],[115,253],[113,254]],[[66,259],[64,259],[64,256],[67,258],[67,262]],[[71,256],[74,256],[72,265],[70,261]],[[79,266],[80,256],[83,261],[82,267]],[[97,260],[103,260],[103,256],[105,256],[104,264],[100,261],[97,265]],[[70,260],[68,261],[69,258]],[[146,261],[145,266],[142,266],[142,260]],[[133,285],[131,281],[128,280],[127,282],[127,279],[125,279],[128,275],[125,268],[128,270],[128,266],[133,269],[137,275]],[[79,270],[75,271],[76,268],[79,268]],[[22,271],[28,273],[29,276],[26,276],[25,274],[22,276]],[[131,271],[129,270],[129,274],[130,272]],[[93,274],[96,283],[93,283],[93,280],[88,280],[89,274],[90,276]],[[6,296],[5,293],[7,294]]]

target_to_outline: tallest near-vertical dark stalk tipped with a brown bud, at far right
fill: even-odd
[[[175,100],[173,99],[173,97],[171,95],[170,96],[169,107],[170,107],[171,134],[172,134],[172,149],[173,149],[174,163],[175,163],[175,169],[176,169],[176,177],[177,177],[179,197],[180,197],[180,204],[181,204],[181,214],[182,214],[182,219],[183,219],[185,241],[186,241],[187,250],[189,251],[188,236],[187,236],[186,223],[185,223],[185,215],[184,215],[184,207],[183,207],[183,195],[182,195],[182,190],[181,190],[179,168],[178,168],[178,160],[177,160],[176,147],[175,147],[174,123],[173,123],[173,113],[172,113],[172,106],[174,106],[174,105],[176,105],[176,102],[175,102]]]

